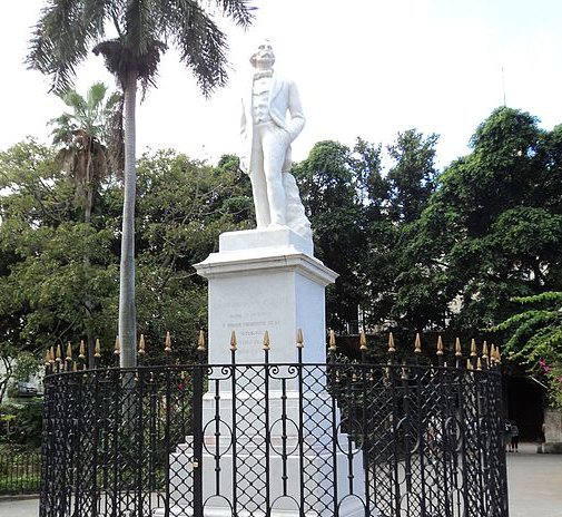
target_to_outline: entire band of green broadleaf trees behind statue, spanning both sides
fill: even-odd
[[[327,291],[328,326],[408,339],[440,332],[445,343],[480,336],[505,344],[533,371],[556,372],[562,126],[545,130],[526,113],[500,108],[476,129],[472,150],[442,173],[436,143],[415,129],[386,147],[321,142],[295,164],[315,254],[339,273]],[[211,167],[171,150],[144,156],[138,172],[140,332],[149,342],[167,330],[195,336],[206,322],[206,286],[193,264],[221,232],[254,226],[248,178],[235,156]],[[55,149],[31,140],[0,154],[0,181],[9,189],[0,198],[2,339],[33,350],[76,342],[88,323],[112,342],[116,176],[100,183],[89,225]],[[85,291],[89,322],[77,311]]]

